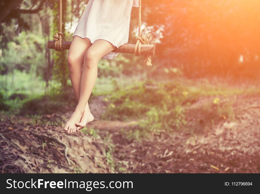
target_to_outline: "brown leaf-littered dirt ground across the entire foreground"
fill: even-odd
[[[205,101],[212,99],[186,107],[187,126],[198,123],[203,133],[180,130],[142,141],[130,141],[122,132],[134,129],[136,121],[101,120],[106,107],[103,97],[90,101],[95,119],[88,128],[98,129],[100,137],[95,138],[85,133],[67,135],[60,126],[28,124],[21,116],[1,115],[0,172],[259,173],[259,96],[235,97],[235,119],[223,117],[207,126],[207,117],[200,112]],[[68,118],[71,113],[43,117]],[[115,170],[107,159],[108,145],[114,147]]]

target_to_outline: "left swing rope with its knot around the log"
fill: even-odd
[[[61,31],[62,31],[62,0],[60,0],[60,4],[59,4],[59,32],[57,32],[53,38],[55,41],[54,49],[56,51],[63,50],[62,41],[63,41],[64,35]]]

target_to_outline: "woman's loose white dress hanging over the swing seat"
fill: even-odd
[[[128,42],[132,7],[139,0],[89,0],[74,36],[95,40],[107,40],[117,48]],[[113,59],[118,53],[108,53],[103,58]]]

